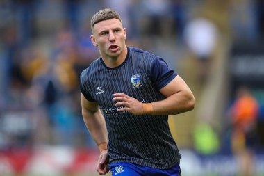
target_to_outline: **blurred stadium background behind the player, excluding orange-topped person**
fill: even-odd
[[[99,56],[90,18],[106,7],[129,46],[162,56],[195,94],[194,111],[170,117],[183,176],[242,170],[230,113],[241,86],[259,107],[245,162],[263,175],[263,0],[1,0],[0,175],[96,175],[79,74]]]

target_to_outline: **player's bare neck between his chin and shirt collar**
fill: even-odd
[[[101,58],[103,59],[107,67],[115,68],[121,65],[125,61],[126,55],[127,55],[127,47],[124,47],[124,50],[122,51],[121,54],[119,54],[119,56],[116,57],[101,56]]]

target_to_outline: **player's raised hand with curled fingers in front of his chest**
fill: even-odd
[[[117,109],[117,111],[128,111],[129,113],[133,113],[133,115],[143,114],[142,102],[133,97],[129,97],[129,95],[124,93],[115,93],[113,101],[117,102],[115,103],[115,106],[124,106]]]

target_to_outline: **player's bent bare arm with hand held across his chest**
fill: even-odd
[[[117,101],[115,106],[126,106],[118,109],[118,111],[129,111],[135,115],[142,115],[144,113],[152,115],[174,115],[190,111],[195,107],[195,97],[179,75],[172,79],[164,88],[161,88],[160,93],[166,98],[158,102],[151,102],[153,109],[147,112],[143,111],[142,102],[124,93],[115,93],[113,101]]]

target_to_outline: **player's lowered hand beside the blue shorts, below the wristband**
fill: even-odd
[[[107,154],[107,150],[102,150],[100,153],[100,157],[97,161],[97,172],[99,175],[105,175],[109,171],[108,167],[109,158]]]

